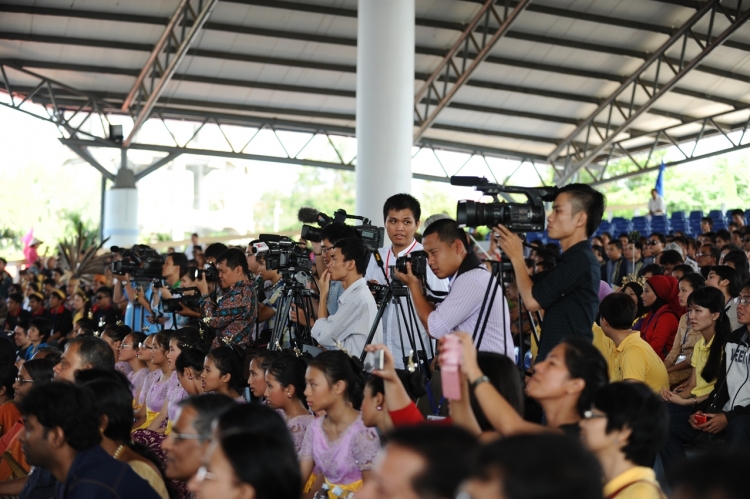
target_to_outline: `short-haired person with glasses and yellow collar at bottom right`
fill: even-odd
[[[623,381],[596,392],[581,437],[602,466],[605,497],[666,497],[651,467],[668,428],[664,404],[646,385]]]

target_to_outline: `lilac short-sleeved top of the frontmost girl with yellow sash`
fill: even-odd
[[[314,461],[329,482],[348,485],[362,480],[362,472],[372,469],[380,450],[380,439],[372,428],[362,422],[362,416],[344,431],[336,441],[328,440],[323,430],[325,417],[315,419],[307,427],[300,461]]]

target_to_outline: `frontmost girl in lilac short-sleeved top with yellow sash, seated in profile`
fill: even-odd
[[[359,413],[365,374],[362,363],[340,350],[323,352],[310,361],[305,374],[305,396],[310,410],[324,410],[305,433],[299,452],[302,482],[317,467],[331,490],[341,487],[345,496],[367,480],[380,440],[365,427]],[[335,499],[332,492],[329,497]]]

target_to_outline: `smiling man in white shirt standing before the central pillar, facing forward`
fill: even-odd
[[[423,250],[422,245],[414,239],[414,234],[419,229],[421,215],[422,208],[419,205],[419,201],[409,194],[395,194],[386,199],[383,204],[383,223],[388,233],[388,239],[391,240],[391,247],[380,248],[378,252],[383,261],[388,280],[392,277],[390,267],[396,264],[398,258],[409,255],[414,251]],[[370,259],[365,278],[370,282],[375,281],[378,284],[388,284],[383,275],[383,270],[378,267],[374,257]],[[428,286],[427,292],[431,296],[444,296],[447,293],[449,288],[448,279],[436,277],[429,268],[427,269],[426,281]],[[406,307],[408,304],[404,303],[404,306]],[[401,322],[401,328],[399,328],[399,322]],[[383,340],[388,349],[393,353],[397,369],[404,368],[404,357],[408,353],[408,351],[404,352],[404,349],[408,349],[410,345],[407,338],[401,337],[402,331],[406,328],[403,322],[403,316],[401,316],[398,307],[393,303],[388,304],[383,312],[382,319]],[[427,344],[430,338],[422,330],[418,321],[416,327],[418,331],[413,331],[413,334],[422,336],[421,342],[419,338],[414,337],[416,347],[419,349],[424,344],[427,349],[425,355],[429,356],[431,352]],[[402,342],[404,348],[401,347]],[[416,354],[416,352],[414,353]]]

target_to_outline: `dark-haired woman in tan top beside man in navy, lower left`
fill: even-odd
[[[90,389],[101,411],[102,448],[115,459],[128,463],[162,499],[169,492],[156,456],[130,439],[133,396],[127,378],[120,372],[85,369],[76,372],[76,384]]]

